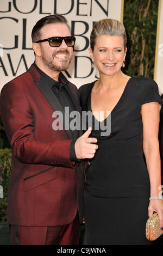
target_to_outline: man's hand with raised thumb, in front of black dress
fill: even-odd
[[[91,134],[91,127],[80,136],[75,145],[76,156],[78,159],[92,159],[95,156],[96,150],[98,149],[97,138],[89,138]]]

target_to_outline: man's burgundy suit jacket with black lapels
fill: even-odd
[[[69,82],[65,88],[80,111],[76,86]],[[83,222],[84,161],[70,161],[72,133],[52,129],[54,111],[65,117],[34,65],[1,91],[1,118],[12,149],[8,191],[11,224],[67,224],[77,210]]]

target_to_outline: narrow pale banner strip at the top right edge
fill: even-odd
[[[156,81],[156,83],[158,83],[160,95],[163,93],[162,68],[163,68],[163,1],[159,0],[154,80]]]

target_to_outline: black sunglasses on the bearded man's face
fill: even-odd
[[[53,36],[52,38],[47,38],[36,42],[48,41],[50,46],[59,47],[62,44],[63,40],[65,41],[68,47],[74,46],[76,42],[76,38],[74,36]]]

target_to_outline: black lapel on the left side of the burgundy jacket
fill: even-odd
[[[61,107],[60,102],[58,101],[57,97],[54,95],[51,88],[49,88],[49,86],[46,86],[46,82],[45,82],[44,78],[40,75],[39,71],[37,71],[37,69],[33,65],[29,68],[29,72],[33,76],[34,83],[39,88],[41,93],[45,96],[45,98],[50,103],[50,105],[52,106],[54,111],[60,111],[62,113],[63,126],[65,127],[65,123],[66,124],[70,123],[69,115],[65,115],[65,109],[63,109]],[[36,72],[36,75],[34,74],[35,72]],[[37,73],[39,73],[40,76]],[[62,123],[62,120],[60,120],[60,121]],[[68,130],[65,130],[65,131],[66,131],[68,137],[70,139],[73,139],[73,135],[72,135],[71,130],[68,129]]]

